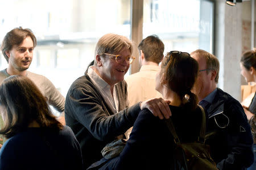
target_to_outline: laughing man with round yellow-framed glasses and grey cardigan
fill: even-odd
[[[68,91],[65,121],[81,145],[86,168],[102,158],[106,144],[124,137],[141,109],[149,109],[160,119],[171,115],[162,98],[127,107],[124,76],[134,60],[132,52],[133,44],[125,36],[102,36],[96,45],[94,65]]]

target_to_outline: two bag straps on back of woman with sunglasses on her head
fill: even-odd
[[[201,113],[202,113],[202,124],[201,124],[201,129],[200,129],[200,134],[199,134],[199,137],[198,137],[198,141],[201,142],[201,143],[204,143],[205,142],[205,111],[204,111],[204,108],[200,105],[198,105],[199,108],[201,109]],[[167,127],[169,128],[169,131],[171,132],[172,136],[174,136],[174,142],[175,143],[180,143],[180,139],[179,137],[177,136],[177,133],[175,131],[175,127],[174,127],[174,123],[172,123],[172,119],[167,119],[166,121],[166,125]]]

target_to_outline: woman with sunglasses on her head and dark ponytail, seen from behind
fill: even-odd
[[[170,119],[181,142],[196,141],[200,132],[202,113],[197,97],[191,92],[198,68],[189,53],[171,51],[156,74],[156,90],[171,101]],[[173,168],[174,138],[163,119],[148,113],[147,109],[140,111],[121,154],[101,169]]]

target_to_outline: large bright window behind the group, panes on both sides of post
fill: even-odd
[[[131,35],[129,0],[9,0],[0,1],[0,6],[0,39],[15,27],[30,28],[38,45],[29,71],[49,78],[64,97],[94,60],[102,35]],[[197,48],[212,52],[213,2],[144,0],[143,38],[152,34],[163,40],[165,53]],[[2,56],[0,69],[5,68]]]

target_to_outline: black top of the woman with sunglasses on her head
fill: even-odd
[[[170,106],[171,119],[181,142],[197,140],[201,127],[201,110],[189,111]],[[171,169],[174,138],[164,120],[144,109],[134,123],[130,139],[122,153],[102,169]]]

